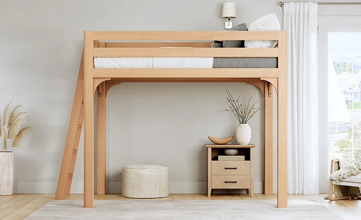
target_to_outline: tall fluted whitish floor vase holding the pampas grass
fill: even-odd
[[[0,195],[13,194],[13,152],[0,151]]]

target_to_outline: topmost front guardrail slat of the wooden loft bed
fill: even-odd
[[[277,40],[279,31],[93,31],[94,40]]]

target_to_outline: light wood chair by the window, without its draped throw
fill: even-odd
[[[339,168],[339,159],[332,159],[330,174],[339,170]],[[361,187],[361,183],[336,181],[330,178],[328,196],[326,196],[325,199],[334,201],[346,198],[361,198],[359,187]]]

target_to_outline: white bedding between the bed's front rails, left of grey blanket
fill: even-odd
[[[95,68],[212,68],[213,57],[94,57]]]

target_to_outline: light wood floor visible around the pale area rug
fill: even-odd
[[[359,219],[361,216],[361,199],[346,199],[339,201],[324,200],[323,197],[327,194],[319,195],[288,195],[288,199],[306,199],[316,200],[326,207],[331,209],[333,212],[338,214],[344,219]],[[0,196],[0,219],[3,220],[17,220],[24,219],[34,211],[38,210],[48,201],[53,200],[55,194],[14,194],[8,196]],[[83,199],[83,194],[71,194],[65,196],[65,199]],[[106,195],[95,195],[95,199],[98,200],[126,200],[131,198],[124,198],[121,194],[106,194]],[[232,200],[232,199],[247,199],[247,200],[263,200],[263,199],[274,199],[276,200],[276,194],[264,195],[255,194],[254,197],[248,195],[239,194],[212,194],[211,197],[207,197],[206,194],[169,194],[166,198],[155,198],[165,200]],[[276,201],[275,201],[276,203]]]

